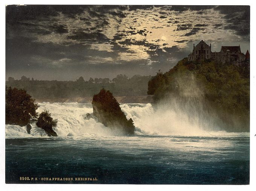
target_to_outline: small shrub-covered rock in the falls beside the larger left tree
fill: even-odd
[[[44,110],[42,113],[40,113],[38,120],[37,120],[37,126],[44,129],[49,136],[57,137],[55,131],[53,131],[53,127],[56,127],[58,123],[58,119],[53,119],[51,117],[51,113],[49,111]]]

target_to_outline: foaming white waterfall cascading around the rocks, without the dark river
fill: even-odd
[[[58,119],[58,126],[53,128],[59,137],[92,137],[113,136],[116,132],[97,122],[95,119],[84,119],[85,114],[92,113],[91,104],[81,103],[49,103],[38,104],[38,112],[49,110],[53,119]],[[158,107],[154,110],[151,104],[120,104],[122,111],[128,119],[132,118],[136,126],[136,134],[147,135],[206,135],[225,134],[224,131],[205,131],[197,119],[191,121],[186,113],[177,112],[168,107]],[[31,133],[28,134],[26,126],[6,125],[6,137],[48,137],[47,133],[38,128],[36,122],[30,124]],[[241,133],[239,133],[241,134]],[[230,134],[231,135],[231,134]],[[232,135],[235,135],[232,133]]]

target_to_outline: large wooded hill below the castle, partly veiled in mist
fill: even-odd
[[[175,99],[187,113],[196,109],[200,117],[215,116],[215,125],[226,131],[250,131],[248,63],[235,66],[184,58],[168,72],[152,77],[148,94],[154,95],[154,102]]]

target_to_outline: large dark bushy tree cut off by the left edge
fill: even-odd
[[[24,126],[29,119],[37,117],[38,105],[35,99],[26,93],[25,90],[6,86],[5,89],[5,123]]]

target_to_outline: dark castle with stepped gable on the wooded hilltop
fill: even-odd
[[[212,44],[207,45],[203,40],[196,46],[194,44],[193,51],[187,57],[189,61],[213,59],[222,63],[241,64],[250,59],[250,53],[247,50],[246,54],[241,52],[239,46],[221,46],[221,51],[212,52]]]

